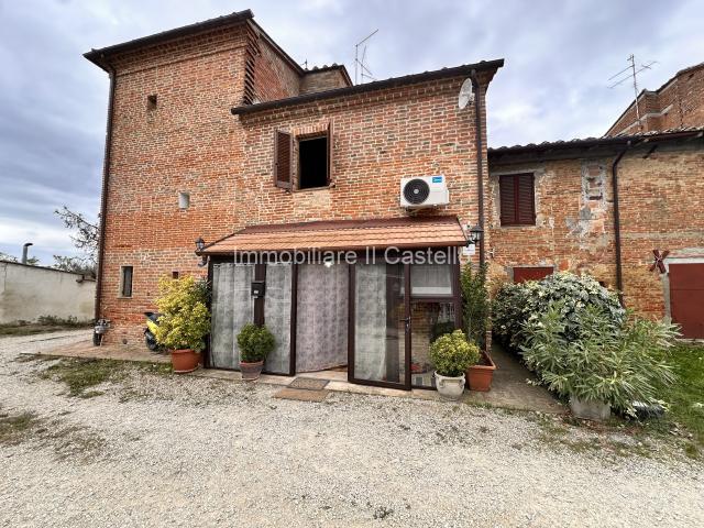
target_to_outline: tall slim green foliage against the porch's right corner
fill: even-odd
[[[462,266],[462,320],[469,339],[484,348],[490,323],[490,301],[486,290],[486,265],[473,271],[471,264]]]

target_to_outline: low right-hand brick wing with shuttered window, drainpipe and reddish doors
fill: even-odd
[[[494,275],[588,273],[627,307],[704,337],[703,136],[683,128],[490,150]]]

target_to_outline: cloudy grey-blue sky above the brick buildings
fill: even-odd
[[[344,63],[373,30],[376,78],[503,57],[488,94],[490,144],[602,135],[632,98],[608,78],[658,61],[654,89],[704,61],[704,3],[692,1],[0,0],[0,251],[25,241],[45,264],[72,254],[54,217],[98,212],[108,77],[81,54],[250,8],[296,61]],[[285,8],[285,9],[284,9]]]

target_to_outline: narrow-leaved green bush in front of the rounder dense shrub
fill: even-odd
[[[632,413],[635,400],[657,402],[656,386],[674,381],[666,352],[675,327],[634,317],[620,323],[594,305],[568,319],[564,305],[551,301],[525,323],[522,358],[539,382],[561,396],[606,402],[622,413]]]

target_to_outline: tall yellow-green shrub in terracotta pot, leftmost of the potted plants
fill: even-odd
[[[162,277],[158,289],[156,305],[161,315],[155,328],[156,342],[170,351],[174,372],[195,371],[210,332],[207,285],[191,276]]]

